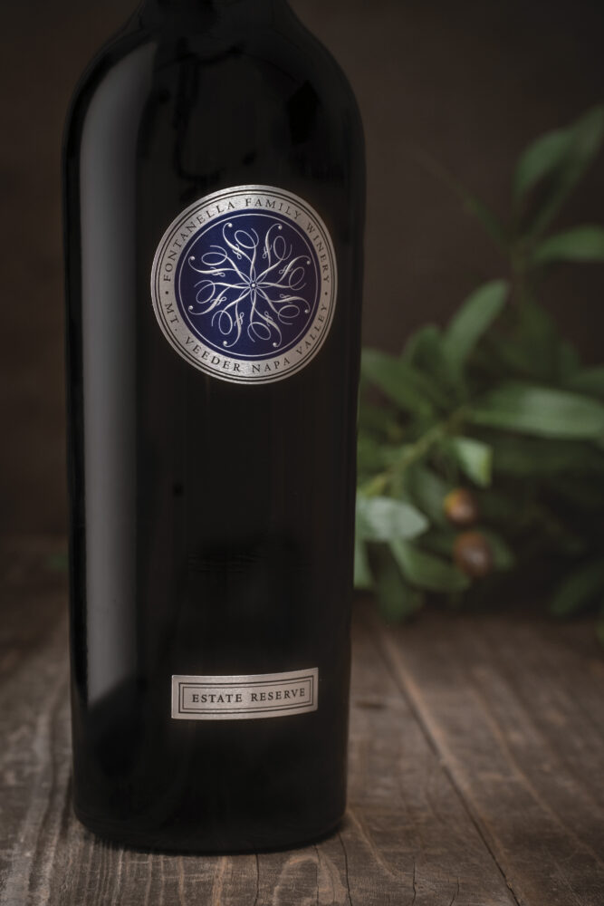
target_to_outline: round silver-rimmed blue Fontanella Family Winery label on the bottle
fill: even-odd
[[[336,259],[327,227],[281,188],[201,198],[158,246],[151,296],[174,349],[200,371],[245,384],[301,371],[330,331]]]

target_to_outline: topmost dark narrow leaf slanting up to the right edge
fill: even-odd
[[[532,236],[541,233],[551,223],[590,163],[597,157],[604,139],[604,107],[594,107],[568,130],[561,130],[561,133],[564,131],[569,135],[568,146],[564,148],[564,140],[559,140],[556,152],[554,141],[553,150],[550,149],[551,163],[543,169],[542,178],[547,178],[549,185],[529,227],[529,234]],[[556,153],[560,156],[557,162]]]

